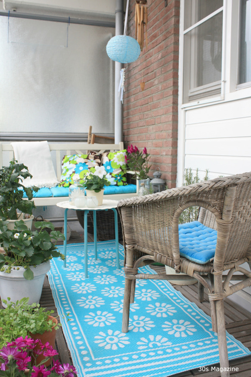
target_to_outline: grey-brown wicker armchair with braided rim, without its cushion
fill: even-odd
[[[217,229],[213,260],[199,264],[180,255],[179,217],[188,207],[201,208],[198,220]],[[251,285],[251,172],[216,178],[189,186],[121,200],[125,249],[125,295],[122,332],[128,331],[130,302],[134,301],[135,279],[182,279],[185,273],[199,282],[199,297],[208,290],[213,330],[218,333],[221,367],[228,367],[225,333],[225,297]],[[203,254],[203,250],[202,250]],[[177,275],[138,273],[140,265],[161,262],[175,268]],[[223,275],[223,271],[228,271]],[[239,271],[241,274],[233,276]],[[230,286],[230,280],[241,280]],[[131,298],[131,299],[130,299]],[[229,372],[222,372],[228,377]]]

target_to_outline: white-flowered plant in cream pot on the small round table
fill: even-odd
[[[105,178],[106,174],[104,166],[95,166],[95,171],[89,172],[85,176],[84,186],[87,198],[90,196],[96,196],[98,205],[101,205],[103,202],[103,187],[110,185],[108,179]]]

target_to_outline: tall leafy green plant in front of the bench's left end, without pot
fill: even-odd
[[[33,191],[37,192],[38,187],[24,187],[23,179],[32,175],[28,172],[27,166],[18,164],[13,159],[9,166],[0,169],[0,217],[9,220],[17,220],[17,209],[23,213],[32,215],[35,208]],[[23,198],[26,193],[28,200]]]

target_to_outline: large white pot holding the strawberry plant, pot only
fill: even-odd
[[[7,297],[10,297],[12,302],[16,302],[23,297],[29,297],[29,304],[39,303],[44,277],[50,270],[50,261],[37,267],[30,267],[30,269],[34,274],[32,280],[26,280],[23,277],[23,267],[20,267],[19,270],[11,270],[10,274],[0,272],[0,296],[2,300],[7,300]],[[2,305],[6,307],[3,302]]]

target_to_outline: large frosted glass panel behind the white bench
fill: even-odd
[[[0,132],[113,133],[114,31],[0,17]]]

